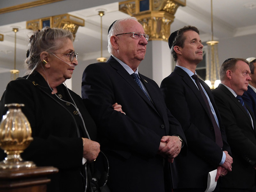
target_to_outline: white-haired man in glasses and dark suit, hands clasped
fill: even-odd
[[[117,20],[109,28],[109,60],[89,65],[83,74],[82,98],[109,160],[111,192],[171,191],[167,160],[186,143],[156,82],[138,73],[147,44],[136,18]],[[125,113],[113,110],[113,101]]]

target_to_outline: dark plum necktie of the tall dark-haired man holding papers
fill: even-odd
[[[209,105],[209,102],[208,102],[208,100],[206,98],[206,95],[204,94],[204,91],[203,91],[203,89],[201,87],[201,84],[199,82],[198,76],[195,74],[195,75],[192,75],[192,78],[195,79],[196,85],[197,85],[197,87],[198,87],[202,97],[204,98],[204,102],[205,102],[205,104],[207,106],[207,109],[208,109],[208,112],[210,114],[210,117],[211,117],[211,120],[212,120],[212,124],[213,124],[214,133],[215,133],[215,142],[216,142],[216,144],[220,148],[222,148],[223,147],[223,141],[222,141],[222,137],[221,137],[220,128],[218,127],[218,125],[216,123],[216,120],[215,120],[215,118],[214,118],[214,116],[212,114],[212,110],[210,108],[210,105]]]

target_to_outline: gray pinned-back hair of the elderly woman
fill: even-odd
[[[25,67],[29,71],[34,70],[41,62],[41,52],[52,52],[60,49],[63,44],[58,40],[64,38],[74,40],[73,34],[65,29],[44,27],[41,31],[35,31],[29,39]]]

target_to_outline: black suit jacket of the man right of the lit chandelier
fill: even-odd
[[[225,188],[251,188],[255,185],[256,135],[252,121],[236,97],[220,84],[212,91],[232,150],[232,172],[221,178]],[[250,114],[253,114],[250,110]],[[251,115],[254,122],[254,116]],[[254,128],[255,124],[254,124]]]

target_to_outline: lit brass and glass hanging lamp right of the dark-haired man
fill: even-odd
[[[212,41],[207,41],[209,59],[206,61],[206,78],[205,83],[211,89],[215,89],[220,84],[220,63],[218,56],[218,43],[213,41],[213,17],[212,17],[212,0],[211,0],[211,23],[212,23]]]

